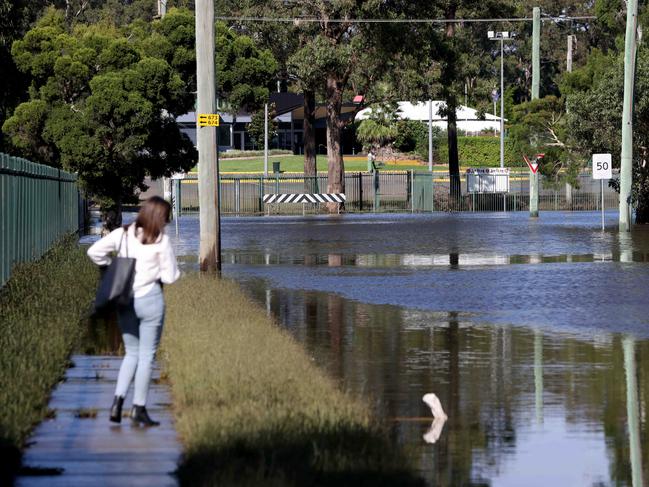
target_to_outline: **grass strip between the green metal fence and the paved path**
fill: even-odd
[[[95,266],[69,237],[40,260],[15,267],[0,289],[2,485],[9,485],[29,433],[48,414],[52,387],[84,332],[96,280]]]

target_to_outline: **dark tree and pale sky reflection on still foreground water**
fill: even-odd
[[[394,441],[431,485],[643,485],[637,394],[646,401],[647,389],[635,377],[649,367],[632,358],[633,346],[649,352],[647,341],[243,284],[343,388],[393,422]],[[431,391],[446,424],[431,424],[421,401]]]

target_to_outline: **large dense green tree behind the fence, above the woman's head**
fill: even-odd
[[[47,10],[13,45],[32,79],[31,100],[3,131],[32,159],[77,172],[93,198],[119,213],[145,176],[195,165],[196,151],[175,123],[193,103],[193,78],[184,77],[193,64],[190,30],[188,11],[125,29],[69,30],[62,11]]]

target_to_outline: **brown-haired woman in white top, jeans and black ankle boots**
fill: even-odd
[[[169,203],[158,196],[149,198],[134,223],[113,230],[88,249],[88,256],[99,266],[110,264],[110,254],[118,250],[120,257],[135,258],[133,300],[118,308],[125,355],[110,410],[110,420],[115,423],[122,420],[124,397],[135,377],[131,420],[144,426],[160,424],[149,417],[145,406],[164,322],[161,283],[171,284],[180,277],[173,248],[164,233],[170,215]],[[120,245],[123,238],[128,239],[126,245]]]

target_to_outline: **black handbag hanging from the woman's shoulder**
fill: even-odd
[[[128,256],[128,235],[124,229],[117,253],[99,281],[95,310],[104,310],[112,305],[125,306],[133,298],[133,279],[135,278],[135,259]],[[122,241],[126,238],[126,257],[120,257]]]

